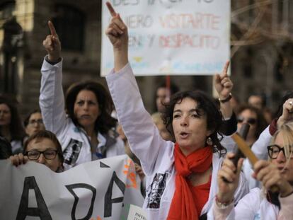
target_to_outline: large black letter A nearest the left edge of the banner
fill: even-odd
[[[37,200],[38,205],[36,208],[28,207],[29,190],[35,191],[35,199]],[[21,204],[19,204],[18,207],[16,220],[25,220],[26,216],[39,216],[41,220],[52,220],[34,176],[26,177],[24,180],[23,194],[21,195]]]

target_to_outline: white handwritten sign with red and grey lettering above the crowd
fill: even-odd
[[[113,69],[105,35],[110,13],[103,0],[100,72]],[[129,31],[129,59],[136,76],[207,75],[230,57],[230,1],[111,0]]]

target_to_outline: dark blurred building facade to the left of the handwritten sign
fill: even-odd
[[[49,20],[62,40],[64,88],[82,79],[99,79],[100,6],[100,1],[0,1],[0,91],[16,94],[23,114],[38,107],[46,54],[42,40],[50,34]],[[11,20],[12,28],[5,28]],[[16,33],[13,26],[21,30]],[[11,30],[15,33],[8,33]]]

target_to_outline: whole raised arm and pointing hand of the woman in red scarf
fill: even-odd
[[[173,143],[163,141],[151,115],[144,108],[137,82],[128,64],[127,27],[110,3],[107,3],[107,6],[112,19],[106,34],[113,45],[115,67],[114,71],[106,76],[106,80],[118,120],[130,143],[130,148],[141,161],[146,175],[151,175],[157,169],[156,166],[162,162],[159,159],[160,156],[173,155],[173,147],[171,147]],[[170,147],[166,147],[168,145]],[[165,161],[165,163],[172,163],[172,161]]]

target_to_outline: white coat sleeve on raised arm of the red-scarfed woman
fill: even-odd
[[[151,115],[144,108],[130,64],[118,73],[112,71],[106,76],[106,80],[130,149],[141,161],[146,175],[151,175],[156,166],[156,159],[161,154],[169,151],[173,156],[173,148],[168,147],[173,144],[161,138],[156,125],[151,120]],[[166,163],[171,162],[166,161]]]

